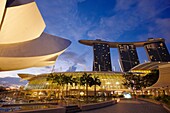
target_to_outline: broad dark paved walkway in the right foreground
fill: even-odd
[[[118,104],[81,113],[169,113],[161,105],[140,101],[121,100]]]

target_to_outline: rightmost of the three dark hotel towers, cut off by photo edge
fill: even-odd
[[[144,45],[148,58],[152,62],[169,62],[170,55],[168,49],[165,45],[165,40],[162,38],[148,39],[147,43]]]

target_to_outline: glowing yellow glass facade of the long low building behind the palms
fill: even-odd
[[[84,72],[64,72],[66,76],[73,76],[73,78],[81,77]],[[92,74],[93,76],[98,76],[101,85],[97,86],[97,90],[107,90],[107,91],[113,91],[113,90],[123,90],[126,89],[122,83],[123,83],[123,77],[122,73],[113,73],[113,72],[89,72],[87,74]],[[38,75],[31,80],[29,80],[28,84],[25,86],[25,90],[50,90],[50,89],[59,89],[59,87],[56,83],[50,83],[47,81],[47,74]],[[82,89],[84,90],[84,86],[79,85],[68,85],[68,90],[73,89]],[[94,90],[94,86],[89,87],[89,90]]]

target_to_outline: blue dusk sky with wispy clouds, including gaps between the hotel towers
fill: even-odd
[[[112,42],[166,40],[170,51],[170,0],[36,0],[46,23],[45,32],[69,39],[72,44],[58,57],[55,71],[91,71],[93,48],[78,40],[101,39]],[[118,50],[111,49],[112,67],[120,71]],[[138,48],[140,63],[148,61],[144,48]],[[52,67],[31,68],[16,73],[40,74]],[[2,77],[1,76],[1,77]]]

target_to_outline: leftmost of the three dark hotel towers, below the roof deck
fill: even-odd
[[[94,43],[93,51],[93,71],[112,71],[109,45]]]

